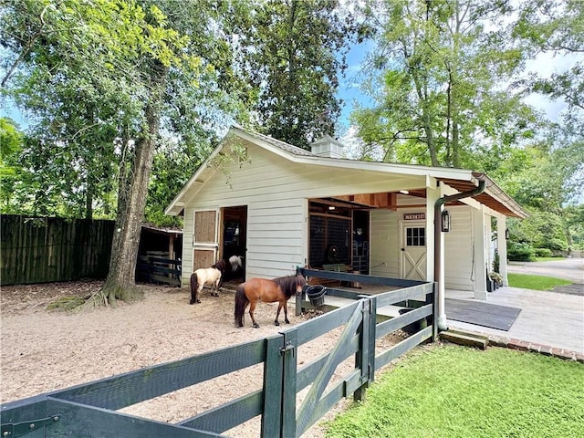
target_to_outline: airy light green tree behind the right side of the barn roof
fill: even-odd
[[[385,160],[475,168],[475,151],[530,136],[535,117],[501,87],[523,62],[507,44],[510,12],[506,1],[368,2],[376,105],[355,111],[360,137],[383,145]]]

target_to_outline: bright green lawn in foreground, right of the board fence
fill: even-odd
[[[512,349],[414,349],[328,438],[581,437],[584,365]]]

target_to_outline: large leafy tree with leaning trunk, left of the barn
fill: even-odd
[[[139,5],[117,0],[7,3],[3,44],[14,56],[3,84],[14,81],[13,95],[23,96],[22,104],[36,111],[47,128],[53,128],[51,120],[57,122],[53,141],[40,138],[37,145],[47,145],[47,156],[61,148],[108,162],[114,155],[99,151],[99,145],[108,144],[118,160],[110,273],[95,301],[113,304],[116,298],[131,299],[137,292],[134,270],[151,165],[162,132],[188,138],[194,120],[203,126],[208,123],[205,128],[210,130],[210,120],[229,108],[231,100],[224,97],[222,84],[233,85],[224,79],[231,76],[232,57],[223,24],[231,5],[172,1]],[[212,90],[199,94],[207,100],[183,108],[189,99],[182,97],[192,96],[191,90],[202,80]],[[48,98],[47,105],[34,101],[32,89],[42,91],[39,100]],[[76,89],[83,102],[74,94]],[[179,108],[167,99],[169,89],[181,89]],[[99,99],[89,99],[93,96]],[[224,101],[214,100],[216,96]],[[176,111],[182,113],[182,120],[171,120]],[[93,126],[95,131],[84,128]],[[83,141],[76,139],[76,133]],[[88,149],[87,155],[81,155]],[[87,169],[99,169],[95,161],[83,162]]]

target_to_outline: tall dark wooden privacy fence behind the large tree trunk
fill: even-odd
[[[105,278],[114,222],[0,216],[0,284]]]

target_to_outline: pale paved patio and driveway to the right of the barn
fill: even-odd
[[[555,276],[584,284],[584,259],[553,262],[511,263],[509,272],[534,276]],[[472,292],[447,290],[446,297],[474,299]],[[517,287],[499,287],[488,294],[489,304],[521,308],[508,331],[448,319],[448,326],[488,335],[506,343],[534,344],[546,349],[566,349],[584,354],[584,294],[546,292]],[[448,318],[448,308],[446,308]]]

